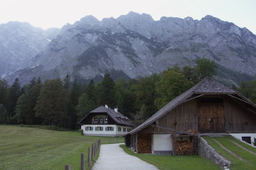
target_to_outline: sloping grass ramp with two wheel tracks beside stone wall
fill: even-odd
[[[256,168],[256,155],[254,155],[248,151],[245,151],[244,149],[240,148],[239,146],[237,146],[233,142],[229,141],[228,139],[231,139],[231,140],[237,142],[238,144],[241,144],[245,148],[255,152],[254,147],[244,144],[243,142],[237,140],[236,138],[234,138],[232,136],[224,136],[224,137],[205,136],[203,138],[208,142],[208,144],[210,144],[215,149],[216,152],[218,152],[221,156],[223,156],[224,158],[226,158],[232,162],[230,169],[255,169]],[[244,162],[244,161],[236,158],[232,154],[228,153],[227,151],[225,151],[223,148],[220,147],[219,144],[217,144],[213,140],[213,138],[216,139],[218,142],[220,142],[224,147],[228,148],[228,150],[236,153],[237,155],[239,155],[241,158],[247,160],[248,162]]]

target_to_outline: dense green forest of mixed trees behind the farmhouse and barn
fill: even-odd
[[[10,86],[0,80],[0,123],[56,125],[76,129],[76,123],[100,105],[118,107],[137,126],[164,105],[188,90],[205,77],[217,74],[218,65],[209,59],[196,61],[196,66],[168,68],[161,74],[140,79],[119,78],[116,81],[105,74],[101,82],[81,84],[70,76],[61,80],[33,78],[20,87],[19,79]],[[256,103],[256,79],[241,82],[240,91]]]

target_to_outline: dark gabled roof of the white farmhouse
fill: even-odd
[[[96,109],[92,110],[90,113],[107,113],[117,124],[125,125],[125,126],[134,126],[134,124],[131,122],[128,117],[125,117],[120,112],[116,112],[115,110],[111,108],[106,108],[104,106],[97,107]],[[89,114],[88,114],[89,115]],[[88,115],[86,115],[82,120],[80,120],[78,123],[82,122]],[[120,117],[121,119],[118,120],[117,117]],[[128,119],[129,122],[123,121],[122,119]]]

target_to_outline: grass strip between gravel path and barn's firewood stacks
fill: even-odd
[[[164,169],[220,169],[219,166],[214,164],[211,160],[204,159],[198,155],[193,156],[164,156],[164,155],[152,155],[152,154],[140,154],[134,153],[131,149],[128,149],[124,144],[120,145],[124,152],[136,156],[141,160],[144,160],[157,168]]]

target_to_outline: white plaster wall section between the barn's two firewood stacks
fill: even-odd
[[[152,138],[152,153],[154,151],[172,151],[172,137],[170,134],[154,134]]]

